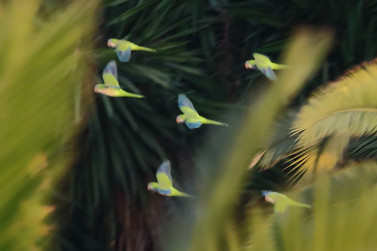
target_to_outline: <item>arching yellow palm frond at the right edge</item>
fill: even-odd
[[[292,133],[298,145],[336,133],[362,136],[375,133],[377,64],[357,66],[340,80],[321,87],[297,114]]]

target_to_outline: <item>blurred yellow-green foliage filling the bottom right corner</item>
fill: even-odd
[[[242,222],[247,238],[237,244],[242,250],[374,250],[376,171],[375,162],[353,163],[288,194],[308,198],[311,210],[274,215],[267,205],[249,205],[248,222]]]

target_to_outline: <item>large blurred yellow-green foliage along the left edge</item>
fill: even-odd
[[[80,112],[88,103],[77,103],[75,93],[97,3],[77,1],[49,21],[37,14],[40,6],[0,3],[0,250],[52,245],[51,186],[72,162],[67,146],[81,122],[75,106]]]

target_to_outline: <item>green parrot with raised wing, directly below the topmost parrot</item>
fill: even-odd
[[[143,95],[133,94],[122,90],[118,83],[118,73],[116,70],[116,63],[114,60],[110,61],[102,72],[104,84],[97,84],[94,87],[94,92],[101,93],[110,97],[132,97],[144,98]]]

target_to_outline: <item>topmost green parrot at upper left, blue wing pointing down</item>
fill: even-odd
[[[120,40],[115,38],[110,38],[107,40],[107,46],[115,48],[116,55],[121,62],[128,62],[131,58],[131,51],[150,51],[156,52],[154,49],[147,47],[138,46],[127,40]]]

